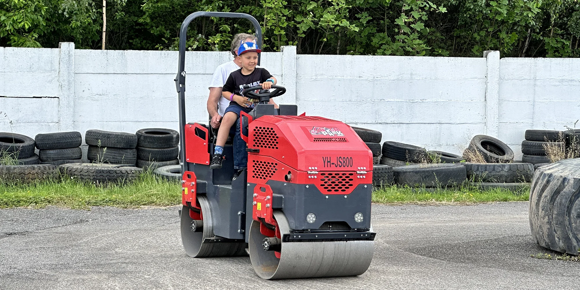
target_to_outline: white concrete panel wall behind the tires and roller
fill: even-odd
[[[209,80],[229,60],[186,53],[188,121],[206,122]],[[525,129],[564,129],[580,116],[580,59],[296,55],[285,46],[263,53],[262,66],[288,89],[277,103],[429,150],[461,153],[488,134],[519,155]],[[176,71],[177,52],[0,48],[0,132],[177,129]]]

